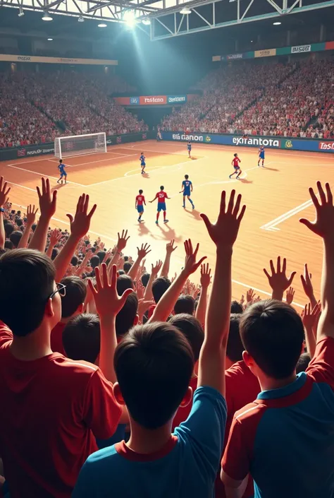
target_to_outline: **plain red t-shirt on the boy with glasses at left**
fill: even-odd
[[[11,498],[70,498],[95,437],[116,431],[120,406],[94,364],[59,353],[21,361],[12,338],[0,322],[0,455]]]

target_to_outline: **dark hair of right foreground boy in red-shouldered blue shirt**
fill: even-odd
[[[304,327],[290,304],[260,301],[248,307],[240,319],[240,336],[261,370],[273,379],[294,372],[304,341]]]

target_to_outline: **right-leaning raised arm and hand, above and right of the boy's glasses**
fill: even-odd
[[[78,200],[75,217],[73,218],[73,215],[70,214],[67,215],[70,220],[70,237],[68,237],[63,249],[54,260],[54,266],[56,266],[57,282],[60,282],[63,278],[63,275],[65,275],[68,265],[70,264],[70,260],[75,253],[75,249],[78,246],[80,239],[82,239],[82,237],[85,237],[89,230],[90,220],[92,219],[92,215],[95,213],[97,205],[94,204],[94,206],[88,213],[88,203],[89,196],[86,194],[82,194],[82,196],[80,196]]]

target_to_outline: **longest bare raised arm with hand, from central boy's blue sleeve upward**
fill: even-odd
[[[213,225],[202,214],[209,236],[216,244],[216,270],[206,314],[204,344],[199,356],[198,386],[211,386],[225,395],[225,355],[230,326],[231,262],[233,244],[246,206],[241,194],[235,201],[235,190],[226,206],[226,192],[221,193],[218,219]]]

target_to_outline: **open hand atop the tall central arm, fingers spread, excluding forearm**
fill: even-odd
[[[216,244],[217,248],[229,247],[232,248],[237,238],[240,222],[245,214],[246,206],[241,205],[241,194],[238,194],[235,201],[235,190],[231,191],[228,206],[226,208],[226,192],[221,193],[221,207],[216,223],[211,223],[205,214],[201,214],[201,218],[205,223],[211,239]]]

